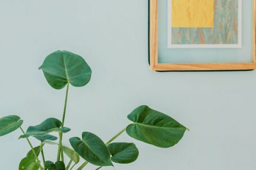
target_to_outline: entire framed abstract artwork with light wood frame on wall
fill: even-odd
[[[255,0],[149,0],[151,70],[254,70],[255,8]]]

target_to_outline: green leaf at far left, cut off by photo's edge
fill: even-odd
[[[0,118],[0,136],[10,134],[19,128],[23,123],[19,116],[10,115]]]

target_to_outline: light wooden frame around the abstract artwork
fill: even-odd
[[[160,0],[163,1],[163,0]],[[221,71],[256,69],[256,0],[253,0],[253,52],[250,63],[158,63],[158,0],[149,0],[149,58],[154,71]]]

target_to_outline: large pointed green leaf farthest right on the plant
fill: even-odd
[[[126,129],[129,136],[160,148],[176,145],[187,130],[172,117],[146,105],[134,109],[128,119],[134,122]]]

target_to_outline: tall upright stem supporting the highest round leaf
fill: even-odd
[[[65,97],[64,111],[63,111],[63,115],[62,115],[62,125],[61,125],[61,127],[64,127],[65,116],[66,116],[66,105],[67,105],[67,102],[68,102],[68,94],[69,94],[69,83],[66,86],[66,97]],[[59,141],[57,161],[60,161],[60,155],[61,155],[62,162],[64,162],[64,155],[63,155],[63,149],[62,149],[62,132],[59,133],[59,136],[60,136],[60,141]]]

